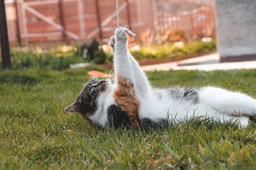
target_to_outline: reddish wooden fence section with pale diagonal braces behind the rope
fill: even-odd
[[[141,27],[139,0],[120,0],[120,24]],[[115,1],[5,1],[10,41],[104,41],[116,27]]]

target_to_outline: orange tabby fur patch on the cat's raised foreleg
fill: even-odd
[[[139,119],[140,102],[134,90],[134,84],[121,75],[117,75],[117,89],[114,97],[117,105],[128,114],[132,126],[141,126],[141,120]]]

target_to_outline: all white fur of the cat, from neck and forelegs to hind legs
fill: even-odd
[[[221,122],[238,122],[240,126],[248,125],[248,117],[256,114],[256,100],[240,92],[230,92],[221,88],[204,87],[198,92],[199,101],[193,103],[185,99],[174,99],[165,89],[150,87],[146,75],[141,71],[137,61],[128,53],[127,29],[119,28],[110,44],[115,46],[115,74],[122,75],[134,82],[135,90],[141,102],[139,117],[153,121],[169,118],[169,120],[185,121],[189,118],[213,118]],[[100,96],[100,108],[90,117],[94,122],[106,126],[107,108],[115,103],[113,92],[115,86],[109,84],[109,90]],[[162,94],[159,99],[156,91]],[[104,111],[104,112],[103,112]]]

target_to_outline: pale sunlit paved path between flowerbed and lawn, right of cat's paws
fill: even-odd
[[[256,61],[236,62],[236,63],[219,63],[218,53],[199,56],[185,61],[178,61],[172,63],[164,63],[158,65],[142,66],[143,71],[167,71],[173,70],[225,70],[225,69],[256,69]]]

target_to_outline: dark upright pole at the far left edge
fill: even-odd
[[[8,40],[4,0],[0,1],[0,39],[3,69],[11,69],[10,47]]]

